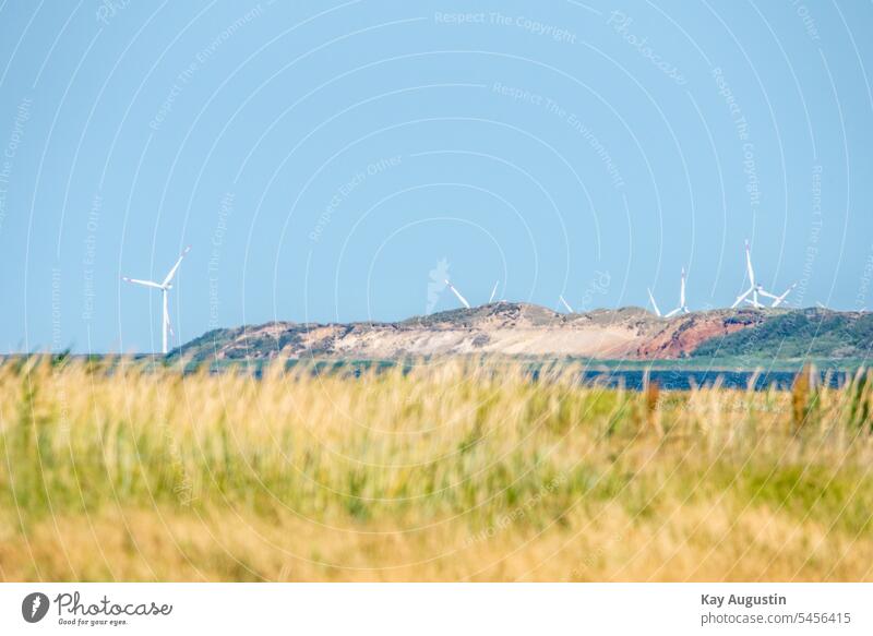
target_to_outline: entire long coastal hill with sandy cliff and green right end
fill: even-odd
[[[215,329],[170,352],[193,361],[397,359],[451,355],[675,360],[865,358],[873,314],[827,310],[714,310],[671,319],[641,308],[561,314],[497,302],[400,322],[272,322]]]

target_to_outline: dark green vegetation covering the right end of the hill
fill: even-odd
[[[761,324],[703,343],[693,357],[755,359],[869,358],[873,313],[810,309],[774,315]]]

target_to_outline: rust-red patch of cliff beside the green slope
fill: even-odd
[[[753,327],[764,319],[760,312],[709,312],[672,319],[663,329],[636,350],[646,360],[669,360],[691,355],[706,340]]]

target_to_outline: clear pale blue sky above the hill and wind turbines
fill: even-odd
[[[0,351],[577,310],[873,309],[870,2],[0,2]]]

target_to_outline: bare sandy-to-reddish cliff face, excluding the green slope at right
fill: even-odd
[[[777,310],[780,311],[780,310]],[[770,312],[772,313],[772,312]],[[498,302],[399,323],[268,323],[206,334],[183,353],[217,359],[509,355],[675,359],[703,343],[753,327],[768,314],[715,310],[661,319],[639,308],[560,314]]]

